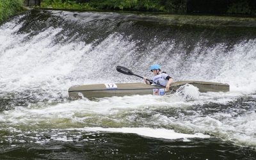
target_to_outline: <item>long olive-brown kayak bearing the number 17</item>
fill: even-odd
[[[168,91],[165,91],[163,86],[154,86],[144,83],[111,83],[72,86],[68,89],[68,95],[71,99],[81,99],[82,97],[91,99],[125,95],[166,95],[166,93],[175,93],[180,86],[185,84],[196,86],[199,92],[229,91],[229,85],[223,83],[177,81],[170,84],[170,90]]]

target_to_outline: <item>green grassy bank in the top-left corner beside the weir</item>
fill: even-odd
[[[23,0],[0,0],[0,23],[22,10]]]

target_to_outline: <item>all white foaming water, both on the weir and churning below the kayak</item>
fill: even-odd
[[[0,92],[39,90],[39,99],[45,96],[40,95],[40,91],[46,92],[52,99],[47,103],[15,106],[15,109],[3,111],[0,113],[1,124],[22,125],[31,129],[79,126],[90,131],[129,132],[167,139],[172,139],[168,136],[170,132],[177,134],[177,138],[189,138],[182,133],[185,130],[211,134],[246,146],[256,145],[255,111],[244,111],[243,115],[238,116],[234,111],[206,116],[196,111],[191,111],[190,116],[180,112],[176,117],[155,113],[158,109],[179,111],[212,102],[228,104],[238,97],[253,96],[252,93],[256,91],[256,40],[240,42],[228,52],[224,44],[216,44],[213,48],[205,49],[204,55],[196,54],[204,47],[198,42],[198,48],[192,51],[192,56],[180,68],[182,55],[177,54],[175,58],[169,59],[166,54],[175,42],[163,42],[148,51],[147,56],[136,59],[136,42],[118,33],[109,35],[99,45],[92,47],[84,42],[54,44],[54,36],[62,28],[49,28],[26,40],[28,35],[14,34],[20,27],[22,24],[15,24],[15,20],[0,27]],[[162,56],[155,60],[157,51]],[[60,95],[67,97],[68,87],[72,85],[141,81],[116,72],[116,65],[128,68],[135,65],[132,68],[137,74],[149,77],[150,72],[145,71],[153,62],[164,64],[164,70],[170,70],[170,74],[176,76],[175,80],[228,83],[230,92],[198,93],[192,88],[192,91],[186,92],[193,98],[189,100],[179,94],[169,97],[134,95],[52,104],[52,100],[58,99]],[[148,113],[150,116],[143,118],[138,113]],[[157,128],[159,126],[167,129]],[[150,134],[141,133],[145,127]],[[170,127],[177,131],[173,132]],[[159,135],[159,132],[163,134]]]

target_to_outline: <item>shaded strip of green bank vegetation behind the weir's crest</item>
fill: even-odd
[[[211,15],[256,15],[256,2],[252,0],[44,0],[42,8],[70,10],[115,10],[137,12],[164,12]]]

